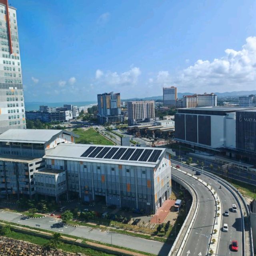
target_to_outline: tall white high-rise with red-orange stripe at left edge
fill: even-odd
[[[0,0],[0,133],[25,129],[25,108],[16,9]]]

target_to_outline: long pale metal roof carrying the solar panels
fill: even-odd
[[[59,144],[46,150],[43,158],[155,167],[165,148]]]

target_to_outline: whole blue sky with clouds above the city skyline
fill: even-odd
[[[28,102],[256,88],[255,1],[9,2]]]

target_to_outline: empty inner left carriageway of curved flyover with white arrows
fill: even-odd
[[[210,191],[194,178],[184,175],[176,170],[174,170],[174,175],[196,187],[200,200],[198,214],[192,226],[191,233],[188,237],[182,255],[206,255],[208,249],[208,238],[206,238],[205,235],[208,236],[212,233],[215,214],[215,210],[212,210],[215,209],[214,198]]]

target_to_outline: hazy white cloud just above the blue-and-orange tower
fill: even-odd
[[[104,82],[108,85],[135,85],[138,81],[138,78],[141,74],[140,68],[134,67],[130,70],[118,74],[117,72],[102,72],[100,75],[100,82]]]

